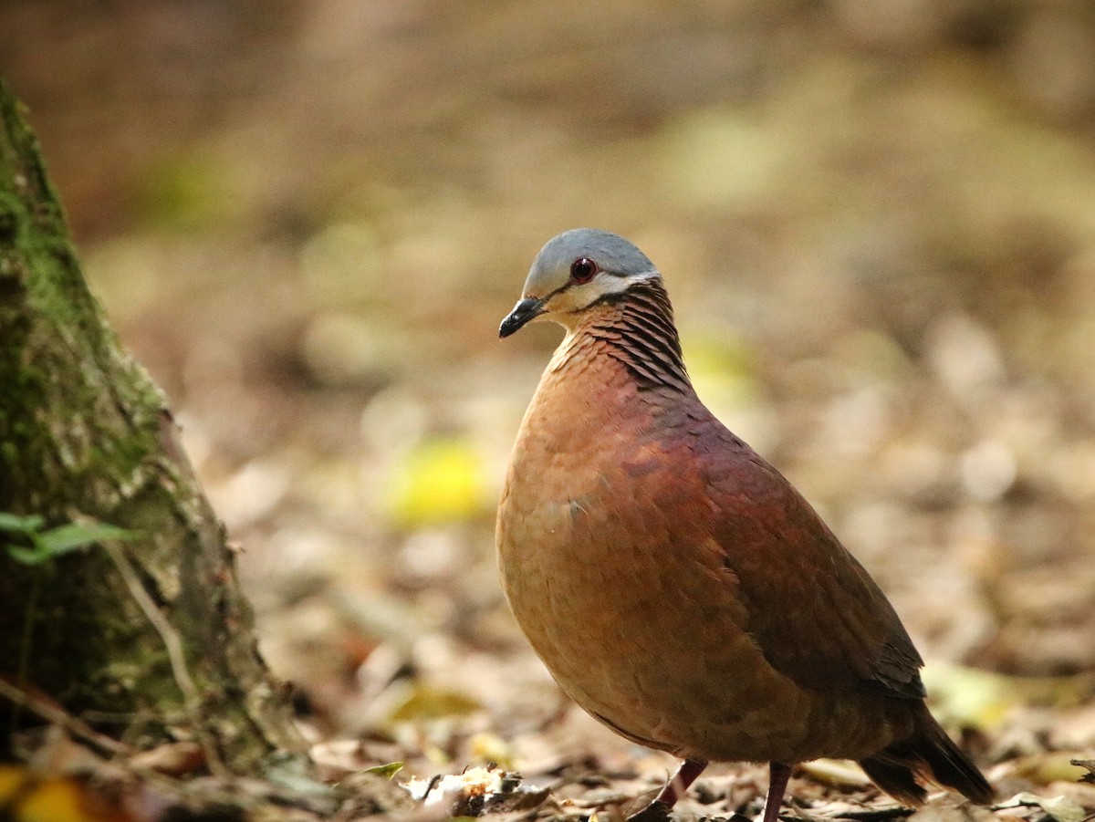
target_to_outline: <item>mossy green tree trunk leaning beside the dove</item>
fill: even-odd
[[[177,435],[88,291],[0,80],[0,512],[132,532],[39,566],[0,533],[0,680],[77,716],[128,717],[115,728],[130,741],[195,738],[253,773],[299,741]],[[0,751],[16,716],[28,711],[0,697]]]

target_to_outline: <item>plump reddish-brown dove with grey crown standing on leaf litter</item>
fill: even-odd
[[[563,692],[682,761],[631,819],[664,819],[710,762],[769,763],[763,822],[821,757],[857,761],[904,804],[932,783],[991,803],[886,595],[696,396],[650,259],[607,231],[558,234],[498,334],[540,321],[565,336],[503,486],[502,586]]]

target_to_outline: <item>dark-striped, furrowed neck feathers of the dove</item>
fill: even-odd
[[[597,312],[585,333],[604,343],[604,354],[623,363],[639,389],[667,387],[685,394],[692,391],[673,325],[673,309],[660,278],[606,294],[598,303],[614,310]]]

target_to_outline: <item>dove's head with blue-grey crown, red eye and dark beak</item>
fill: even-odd
[[[540,250],[498,336],[541,317],[573,328],[589,306],[658,277],[654,263],[622,236],[597,229],[564,231]]]

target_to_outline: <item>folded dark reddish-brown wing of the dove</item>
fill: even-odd
[[[723,511],[714,536],[765,658],[804,688],[922,698],[923,661],[886,595],[791,483],[719,428],[700,448]]]

